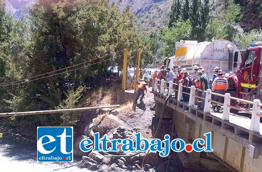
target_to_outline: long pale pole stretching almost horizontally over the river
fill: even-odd
[[[49,114],[49,113],[85,111],[85,110],[103,109],[103,108],[117,108],[117,107],[119,107],[119,104],[107,105],[107,106],[96,106],[96,107],[81,107],[81,108],[72,108],[72,109],[39,110],[39,111],[28,111],[28,112],[10,112],[10,113],[0,113],[0,117],[22,116],[22,115],[40,115],[40,114]]]

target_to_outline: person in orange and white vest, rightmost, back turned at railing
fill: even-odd
[[[225,91],[228,89],[228,82],[227,79],[223,76],[223,71],[218,70],[218,77],[215,78],[213,84],[212,84],[212,91],[214,93],[218,93],[221,95],[225,94]],[[219,103],[223,103],[224,98],[221,96],[214,95],[214,101],[217,101]],[[215,111],[217,107],[217,111],[219,112],[221,108],[221,104],[213,103],[213,110]]]

